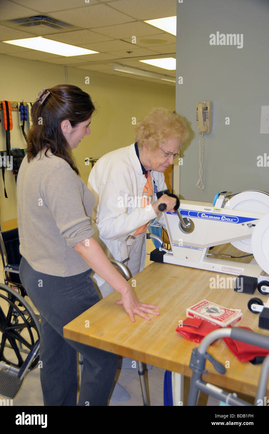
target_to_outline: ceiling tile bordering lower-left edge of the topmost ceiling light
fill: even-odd
[[[110,36],[113,39],[127,39],[132,36],[148,36],[158,33],[156,27],[149,24],[141,23],[140,21],[132,21],[131,23],[117,24],[115,26],[92,28],[94,32]],[[131,42],[131,41],[130,41]]]

